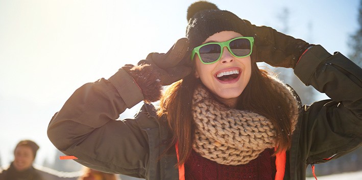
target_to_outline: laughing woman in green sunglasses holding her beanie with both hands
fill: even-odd
[[[146,179],[304,179],[308,164],[361,144],[362,70],[345,56],[207,2],[187,17],[187,39],[166,54],[77,89],[49,125],[55,146],[90,168]],[[259,61],[293,68],[331,100],[300,106]],[[142,100],[134,119],[114,121]]]

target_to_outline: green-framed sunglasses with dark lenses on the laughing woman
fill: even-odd
[[[253,50],[253,37],[238,37],[225,42],[211,42],[192,49],[191,61],[197,53],[203,64],[212,64],[221,58],[226,46],[235,57],[247,57]]]

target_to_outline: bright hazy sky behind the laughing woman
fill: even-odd
[[[185,36],[192,2],[0,0],[1,163],[13,160],[21,139],[40,145],[36,163],[52,161],[55,147],[46,128],[53,114],[82,84],[109,78],[149,52],[166,52]],[[279,31],[288,8],[288,34],[330,53],[348,55],[349,36],[358,27],[357,0],[211,2]]]

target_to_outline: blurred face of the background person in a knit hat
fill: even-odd
[[[14,167],[18,171],[23,171],[33,165],[34,155],[32,148],[26,145],[16,147],[14,152]]]

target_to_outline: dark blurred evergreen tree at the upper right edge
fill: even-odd
[[[349,45],[351,46],[351,53],[349,58],[362,67],[362,1],[359,2],[358,8],[358,29],[355,34],[350,36]]]

